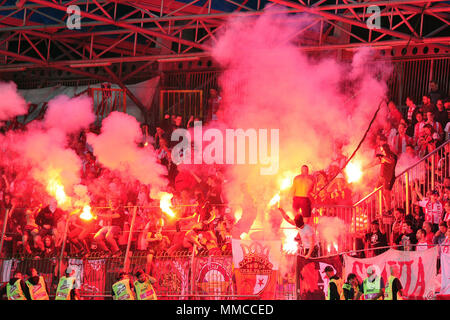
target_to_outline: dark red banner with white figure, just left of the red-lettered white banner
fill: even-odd
[[[342,274],[339,256],[320,259],[298,256],[297,264],[301,300],[325,300],[329,283],[325,274],[326,267],[332,267],[338,276]]]

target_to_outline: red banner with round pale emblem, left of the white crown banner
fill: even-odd
[[[199,295],[232,295],[232,258],[223,256],[198,257],[195,259],[194,292]],[[206,299],[223,299],[206,297]]]

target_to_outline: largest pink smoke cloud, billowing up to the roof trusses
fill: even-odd
[[[325,169],[336,141],[345,141],[349,156],[387,92],[391,68],[373,62],[369,48],[356,51],[353,60],[344,63],[334,57],[312,58],[286,38],[308,21],[306,15],[271,10],[257,18],[233,18],[212,51],[225,69],[219,79],[222,110],[214,126],[279,129],[279,146],[269,146],[279,148],[277,175],[261,175],[261,165],[229,166],[231,181],[225,190],[231,203],[242,205],[239,193],[245,181],[257,206],[254,221],[265,230],[272,229],[265,216],[267,203],[280,189],[277,176],[303,164],[310,172]],[[381,119],[383,113],[378,125]],[[358,154],[362,164],[373,159],[369,150],[363,147]],[[287,192],[281,197],[281,203],[291,205]],[[246,214],[244,209],[243,218]]]

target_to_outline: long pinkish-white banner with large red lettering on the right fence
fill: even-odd
[[[357,259],[345,255],[344,277],[346,278],[349,273],[354,273],[359,281],[362,281],[367,277],[367,268],[374,266],[377,274],[381,275],[386,283],[390,266],[397,265],[400,269],[400,282],[406,296],[432,299],[434,297],[437,254],[438,248],[434,247],[425,251],[390,249],[367,259]]]

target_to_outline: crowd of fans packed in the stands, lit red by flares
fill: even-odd
[[[416,106],[406,99],[407,110],[402,114],[389,103],[389,117],[385,127],[378,132],[378,140],[387,141],[397,158],[409,154],[419,160],[432,152],[449,138],[450,100],[437,91],[423,97],[422,104]],[[220,106],[217,91],[210,92],[208,101],[210,112],[205,121],[217,119]],[[187,120],[187,121],[186,121]],[[35,258],[54,257],[61,251],[67,219],[68,234],[65,253],[70,256],[97,255],[118,257],[124,254],[133,207],[137,206],[136,221],[132,234],[134,252],[150,256],[180,250],[192,250],[208,255],[223,254],[231,250],[231,232],[235,222],[234,213],[226,206],[223,186],[226,171],[219,166],[210,166],[207,171],[192,172],[178,168],[172,161],[171,133],[177,128],[192,127],[191,116],[183,119],[179,115],[166,115],[154,134],[148,125],[142,125],[143,140],[140,146],[152,144],[158,161],[167,167],[169,191],[173,193],[173,207],[177,218],[168,219],[159,207],[159,200],[151,198],[151,186],[139,181],[125,181],[123,177],[103,167],[94,155],[92,146],[86,141],[86,133],[99,133],[100,127],[91,126],[70,138],[70,147],[82,159],[81,184],[85,185],[91,198],[95,219],[83,220],[79,215],[57,207],[54,199],[46,195],[45,186],[37,184],[27,174],[31,168],[12,167],[10,159],[16,154],[0,154],[0,226],[5,225],[3,256],[28,255]],[[9,130],[27,130],[26,126],[14,125]],[[2,128],[5,133],[8,129]],[[448,145],[447,145],[448,146]],[[338,146],[330,159],[328,168],[315,172],[316,205],[351,205],[351,185],[339,173],[347,158]],[[450,180],[448,177],[449,148],[444,157],[436,160],[436,170],[441,170],[439,189],[432,194],[422,195],[416,188],[416,206],[408,217],[402,208],[394,210],[393,243],[404,248],[409,244],[431,244],[442,240],[445,230],[441,224],[450,217],[448,199]],[[447,172],[445,171],[447,168]],[[329,181],[333,179],[331,183]],[[323,188],[326,186],[326,188]],[[320,192],[319,192],[320,191]],[[430,200],[431,199],[431,200]],[[431,205],[430,205],[431,201]],[[431,226],[429,225],[431,223]],[[369,246],[387,244],[385,234],[379,226],[366,235]],[[443,227],[442,227],[443,228]],[[439,229],[439,230],[438,230]],[[381,236],[375,237],[377,234]],[[408,236],[405,236],[408,235]],[[409,243],[405,240],[409,239]],[[439,240],[441,239],[441,240]],[[445,239],[445,237],[444,237]],[[442,240],[444,241],[444,240]],[[195,245],[195,246],[194,246]]]

